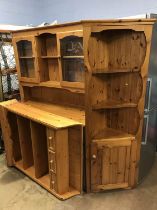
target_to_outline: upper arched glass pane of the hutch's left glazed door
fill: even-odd
[[[17,43],[19,56],[32,56],[32,43],[27,40],[19,41]]]

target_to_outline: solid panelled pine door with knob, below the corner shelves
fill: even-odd
[[[91,191],[128,187],[131,141],[118,144],[110,145],[105,141],[92,143]]]

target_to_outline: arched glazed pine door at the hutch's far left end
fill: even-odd
[[[14,38],[13,45],[19,80],[22,82],[38,83],[40,78],[35,37]]]

